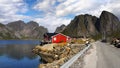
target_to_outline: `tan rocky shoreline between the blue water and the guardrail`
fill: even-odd
[[[47,62],[40,64],[39,68],[60,68],[62,64],[85,47],[84,44],[47,44],[36,46],[33,52]]]

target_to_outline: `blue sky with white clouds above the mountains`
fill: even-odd
[[[120,0],[0,0],[0,23],[35,21],[54,32],[56,27],[68,25],[77,15],[99,17],[103,10],[120,19]]]

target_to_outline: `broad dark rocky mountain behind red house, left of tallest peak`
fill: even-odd
[[[97,20],[97,17],[88,14],[76,16],[62,33],[73,37],[96,35],[98,33],[95,27]]]

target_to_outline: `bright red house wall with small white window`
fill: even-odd
[[[67,42],[67,36],[63,34],[57,34],[55,36],[52,36],[52,43],[61,43],[61,42]]]

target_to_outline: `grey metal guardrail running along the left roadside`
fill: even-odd
[[[80,51],[75,56],[73,56],[70,60],[68,60],[66,63],[64,63],[60,68],[69,68],[81,55],[84,54],[85,51],[87,51],[89,49],[90,46],[91,45],[89,44],[82,51]]]

